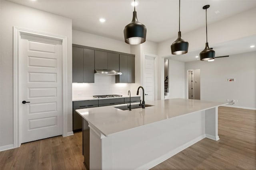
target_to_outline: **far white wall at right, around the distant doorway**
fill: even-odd
[[[256,108],[256,52],[218,58],[214,62],[185,63],[186,72],[197,68],[201,74],[201,100],[226,102],[226,99],[235,99],[238,100],[235,106]],[[236,81],[227,82],[227,78]]]

